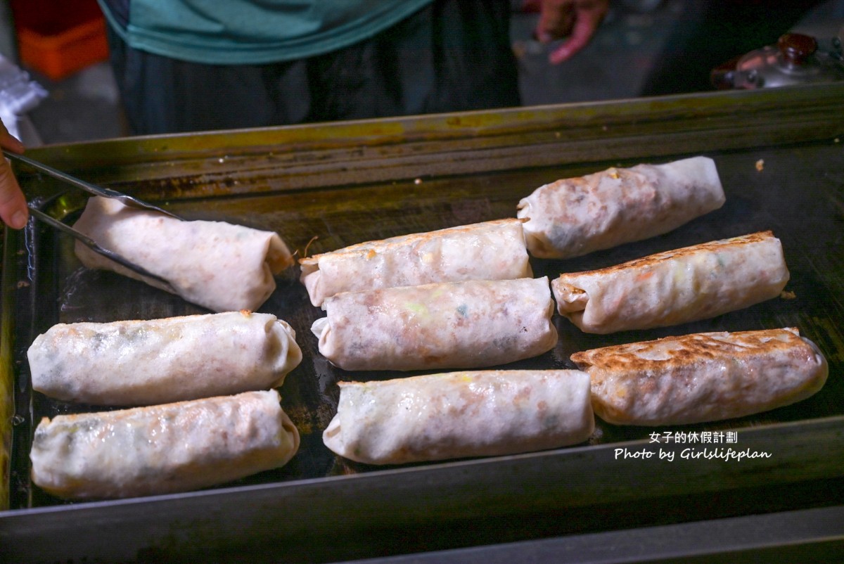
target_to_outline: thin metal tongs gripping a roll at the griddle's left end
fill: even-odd
[[[161,209],[158,206],[154,206],[151,203],[143,202],[138,198],[134,198],[133,196],[129,196],[128,194],[124,194],[121,192],[117,192],[116,190],[111,190],[111,188],[103,188],[96,186],[95,184],[91,184],[89,182],[85,182],[84,180],[80,180],[75,176],[71,176],[66,172],[58,171],[57,169],[52,168],[51,166],[45,165],[37,160],[32,160],[29,157],[24,157],[24,155],[16,155],[11,151],[5,151],[3,156],[8,158],[8,160],[14,160],[19,163],[23,163],[24,165],[29,165],[30,167],[34,168],[36,171],[40,171],[45,173],[48,176],[52,176],[53,178],[57,178],[62,182],[66,182],[71,186],[78,187],[83,189],[85,192],[94,194],[95,196],[102,196],[103,198],[114,198],[120,201],[123,205],[127,206],[127,208],[135,208],[135,209],[145,209],[148,211],[159,212],[160,214],[169,215],[176,220],[181,220],[181,218],[176,215],[172,214],[166,209]],[[38,207],[34,203],[28,203],[30,208],[30,212],[38,218],[39,220],[43,221],[47,225],[56,228],[64,233],[67,233],[69,236],[72,236],[77,241],[81,241],[86,247],[89,247],[92,251],[102,255],[103,257],[108,258],[109,260],[120,264],[121,266],[132,270],[134,273],[140,274],[145,278],[154,279],[157,282],[160,282],[162,285],[165,285],[166,288],[172,289],[172,285],[170,285],[170,281],[161,278],[158,274],[152,274],[146,268],[138,266],[138,264],[133,263],[132,261],[128,260],[127,258],[122,257],[122,255],[106,249],[105,247],[100,247],[100,244],[97,241],[94,241],[89,236],[85,235],[81,231],[73,229],[70,225],[62,223],[62,221],[57,220],[54,217],[51,217],[49,214],[45,214],[38,209]],[[170,290],[173,293],[176,293],[176,290]]]

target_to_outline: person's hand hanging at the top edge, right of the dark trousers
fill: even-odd
[[[536,38],[541,43],[564,39],[549,54],[552,64],[567,61],[587,46],[603,17],[609,0],[525,0],[526,11],[539,12]]]

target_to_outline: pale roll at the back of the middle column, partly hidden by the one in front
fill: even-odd
[[[516,219],[359,243],[299,263],[314,306],[340,292],[533,276]]]

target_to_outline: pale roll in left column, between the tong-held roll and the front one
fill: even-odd
[[[302,351],[288,323],[225,312],[51,327],[27,351],[32,388],[98,405],[151,405],[278,388]]]

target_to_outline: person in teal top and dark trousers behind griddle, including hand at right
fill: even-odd
[[[133,134],[520,103],[511,0],[99,2]],[[578,14],[591,36],[608,0],[542,3],[550,41]]]

